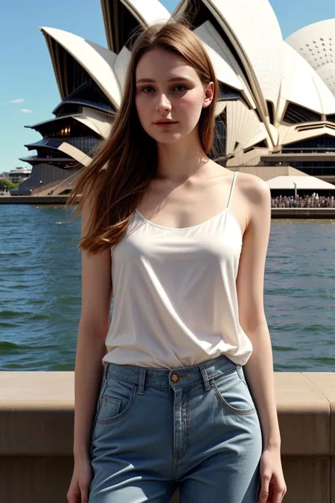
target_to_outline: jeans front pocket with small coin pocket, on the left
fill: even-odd
[[[128,415],[134,405],[136,393],[136,384],[107,373],[96,424],[111,424]]]

